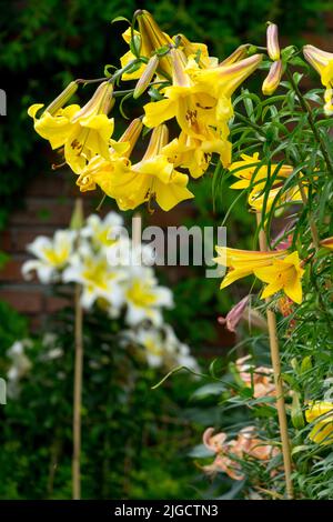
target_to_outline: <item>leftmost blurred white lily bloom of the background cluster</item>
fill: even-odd
[[[30,279],[31,272],[36,271],[43,284],[59,280],[59,272],[67,265],[72,254],[74,239],[75,232],[70,230],[58,230],[53,238],[46,235],[36,238],[27,249],[38,259],[26,261],[22,265],[23,277]]]

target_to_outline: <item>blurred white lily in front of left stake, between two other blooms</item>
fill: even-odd
[[[62,273],[62,281],[81,283],[83,308],[90,309],[97,300],[102,300],[119,310],[123,304],[120,281],[124,277],[123,271],[109,267],[105,255],[85,251],[83,255],[82,252],[72,255],[70,265]]]

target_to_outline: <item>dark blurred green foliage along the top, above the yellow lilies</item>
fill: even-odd
[[[163,29],[183,32],[209,44],[220,58],[240,42],[264,42],[266,20],[281,22],[281,32],[324,31],[325,13],[332,1],[243,0],[223,2],[147,1]],[[48,102],[73,78],[102,74],[105,63],[119,63],[125,50],[123,22],[110,24],[118,16],[132,17],[134,1],[23,0],[1,1],[1,89],[8,94],[8,116],[0,127],[0,227],[8,210],[21,202],[22,189],[37,169],[49,168],[49,159],[36,154],[32,126],[27,108]],[[47,147],[44,145],[44,151]]]

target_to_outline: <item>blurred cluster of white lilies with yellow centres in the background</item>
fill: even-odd
[[[38,237],[28,245],[36,259],[22,267],[43,283],[77,283],[85,310],[94,305],[110,318],[123,318],[131,330],[127,343],[144,349],[150,365],[186,365],[196,369],[188,345],[181,343],[163,320],[163,309],[173,307],[172,291],[154,274],[149,247],[134,244],[115,212],[104,219],[91,214],[78,230],[58,230],[53,238]],[[144,261],[147,263],[144,264]]]

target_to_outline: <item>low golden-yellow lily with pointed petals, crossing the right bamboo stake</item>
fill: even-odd
[[[261,281],[269,283],[261,295],[262,299],[283,290],[296,303],[302,301],[301,278],[304,270],[300,265],[297,252],[291,254],[286,250],[260,252],[228,247],[216,247],[216,252],[219,253],[215,258],[216,263],[229,267],[221,289],[238,279],[254,274]]]

